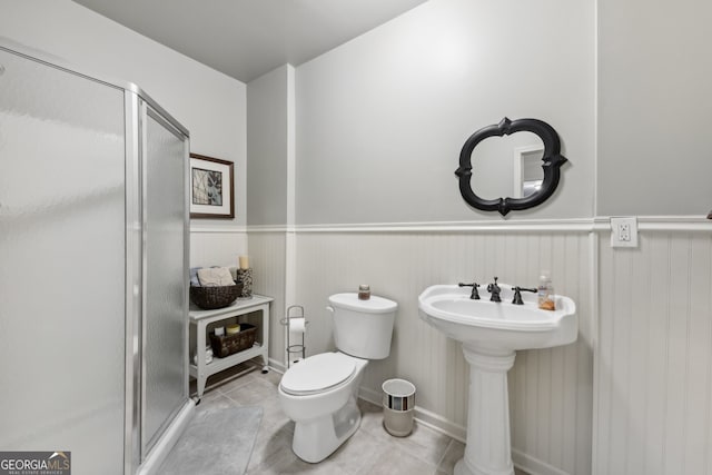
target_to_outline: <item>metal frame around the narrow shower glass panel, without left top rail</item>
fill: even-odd
[[[170,447],[182,432],[195,405],[188,397],[188,266],[190,215],[186,198],[184,209],[184,404],[177,407],[161,426],[156,441],[145,452],[146,420],[146,299],[148,271],[146,255],[147,118],[150,117],[184,141],[184,196],[188,196],[189,133],[160,106],[135,85],[125,87],[126,118],[126,420],[125,474],[150,474],[160,466]]]

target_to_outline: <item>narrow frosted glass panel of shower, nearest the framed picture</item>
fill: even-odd
[[[144,429],[146,454],[188,397],[184,138],[145,110]]]

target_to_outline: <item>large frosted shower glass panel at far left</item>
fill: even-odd
[[[122,474],[123,90],[0,48],[0,449]]]

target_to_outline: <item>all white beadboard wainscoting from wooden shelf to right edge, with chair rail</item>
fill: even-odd
[[[712,224],[639,217],[639,248],[612,249],[606,217],[298,227],[289,303],[286,228],[250,232],[250,254],[258,291],[283,299],[275,308],[305,306],[309,354],[333,349],[328,295],[369,284],[397,300],[390,357],[369,365],[362,394],[377,402],[384,379],[407,378],[417,387],[416,415],[458,437],[465,362],[457,344],[421,321],[417,295],[494,275],[533,285],[548,268],[556,291],[577,304],[580,338],[517,354],[510,374],[515,462],[541,475],[712,475]],[[281,366],[284,333],[276,331],[270,356]]]

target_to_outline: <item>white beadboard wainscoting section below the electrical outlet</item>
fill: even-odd
[[[595,474],[712,474],[711,225],[601,236]]]

